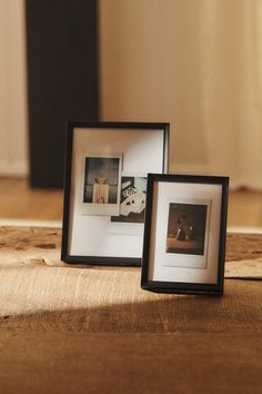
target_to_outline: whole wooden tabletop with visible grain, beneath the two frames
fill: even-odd
[[[222,297],[68,266],[61,229],[0,228],[0,392],[261,393],[262,235],[228,235]]]

